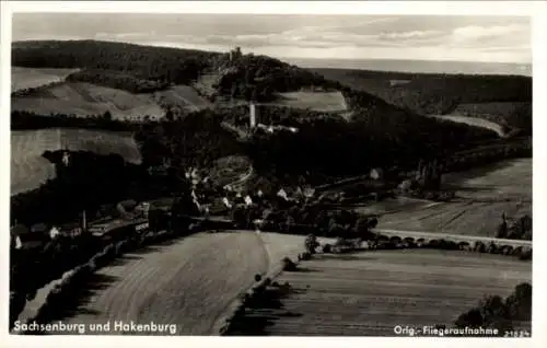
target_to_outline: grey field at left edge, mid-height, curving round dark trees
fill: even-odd
[[[11,195],[37,188],[55,177],[55,166],[42,154],[61,149],[117,153],[130,163],[141,161],[130,134],[86,129],[14,130],[11,131]]]

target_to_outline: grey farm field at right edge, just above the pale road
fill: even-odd
[[[456,189],[456,201],[385,214],[379,228],[493,236],[503,211],[509,218],[532,216],[531,159],[447,174],[443,181]]]

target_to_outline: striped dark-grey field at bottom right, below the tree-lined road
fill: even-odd
[[[229,335],[395,336],[396,325],[451,327],[484,295],[507,297],[532,278],[531,263],[434,250],[318,254],[301,268],[275,279],[289,282],[291,293],[247,310]]]

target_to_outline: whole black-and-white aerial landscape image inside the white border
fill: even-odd
[[[13,12],[10,335],[532,337],[532,27]]]

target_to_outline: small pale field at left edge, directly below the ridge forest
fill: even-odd
[[[11,92],[24,89],[34,89],[53,82],[65,81],[65,79],[79,69],[53,69],[53,68],[11,68]]]

